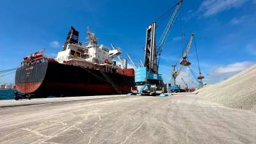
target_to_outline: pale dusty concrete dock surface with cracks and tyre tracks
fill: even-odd
[[[256,113],[193,94],[88,98],[2,100],[0,143],[256,143]]]

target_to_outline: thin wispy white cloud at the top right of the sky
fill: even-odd
[[[198,10],[204,17],[242,6],[247,0],[205,0]]]

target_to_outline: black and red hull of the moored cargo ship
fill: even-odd
[[[134,76],[45,61],[19,68],[15,84],[33,98],[111,95],[131,92]]]

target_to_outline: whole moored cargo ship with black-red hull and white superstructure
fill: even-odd
[[[120,49],[98,45],[90,29],[87,34],[88,42],[79,42],[79,31],[71,27],[56,58],[44,56],[45,50],[24,57],[15,74],[17,90],[29,98],[131,92],[133,68],[127,68],[127,62],[121,66],[113,61]]]

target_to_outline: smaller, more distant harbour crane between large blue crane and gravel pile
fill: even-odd
[[[177,86],[177,84],[176,84],[176,78],[177,78],[177,76],[179,76],[182,67],[191,65],[191,63],[188,61],[188,53],[191,49],[191,45],[192,45],[194,36],[195,36],[195,33],[192,33],[189,38],[188,44],[186,45],[186,48],[185,48],[185,51],[182,54],[182,58],[181,58],[182,61],[180,62],[180,65],[179,65],[179,68],[177,69],[177,71],[175,71],[175,67],[176,67],[177,63],[175,63],[175,65],[172,65],[172,81],[171,81],[172,86],[169,86],[169,89],[171,92],[177,92],[180,89],[179,86]]]

